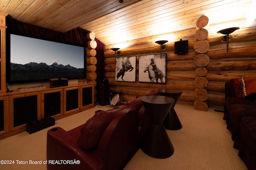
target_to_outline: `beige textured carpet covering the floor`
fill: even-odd
[[[96,110],[113,106],[96,106],[90,110],[56,121],[53,127],[65,130],[82,125]],[[226,129],[223,113],[209,108],[197,111],[193,106],[177,104],[177,115],[182,123],[178,131],[167,130],[174,146],[174,154],[166,159],[152,158],[138,150],[124,170],[246,170],[244,162],[233,148],[231,134]],[[0,160],[14,160],[15,164],[0,164],[0,170],[46,170],[47,129],[27,132],[0,140]],[[40,161],[42,164],[17,164],[19,161]],[[40,163],[40,162],[39,162]]]

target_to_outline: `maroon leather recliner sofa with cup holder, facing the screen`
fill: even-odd
[[[159,95],[159,88],[146,95]],[[70,131],[47,132],[48,170],[121,170],[150,126],[140,97],[106,111],[96,111],[84,125]]]

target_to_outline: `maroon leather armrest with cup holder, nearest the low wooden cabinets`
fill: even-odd
[[[80,160],[80,164],[47,164],[48,170],[102,169],[104,163],[96,156],[96,151],[86,152],[77,138],[61,127],[54,127],[47,132],[47,160]],[[48,162],[49,163],[49,162]]]

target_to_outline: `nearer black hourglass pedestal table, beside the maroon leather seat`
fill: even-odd
[[[174,99],[167,96],[142,96],[141,101],[148,113],[151,125],[142,139],[141,150],[154,158],[168,158],[174,147],[163,125]]]

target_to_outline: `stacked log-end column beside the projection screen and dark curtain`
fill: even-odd
[[[88,47],[86,48],[86,79],[90,82],[96,83],[97,73],[96,71],[96,47],[95,34],[93,32],[87,33]],[[94,86],[94,103],[96,102],[96,85]]]

